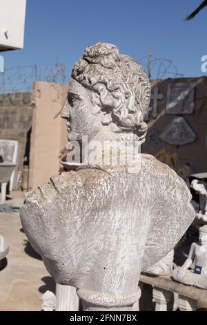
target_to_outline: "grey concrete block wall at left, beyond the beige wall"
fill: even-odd
[[[32,93],[0,95],[0,139],[17,140],[21,145],[19,170],[28,163],[28,148],[32,127]]]

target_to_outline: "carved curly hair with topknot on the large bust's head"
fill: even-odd
[[[73,66],[72,77],[93,91],[103,111],[111,111],[119,127],[128,126],[130,113],[139,113],[135,130],[145,130],[144,115],[150,104],[151,87],[144,68],[128,55],[120,55],[117,46],[98,43],[86,48]]]

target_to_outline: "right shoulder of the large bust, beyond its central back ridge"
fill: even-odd
[[[139,178],[144,186],[148,182],[146,209],[151,215],[142,264],[144,270],[175,246],[195,218],[195,210],[190,204],[192,196],[185,181],[155,157],[142,155]]]

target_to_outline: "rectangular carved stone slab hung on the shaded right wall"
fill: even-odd
[[[194,109],[195,82],[168,84],[166,113],[192,114]]]

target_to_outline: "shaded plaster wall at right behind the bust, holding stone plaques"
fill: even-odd
[[[162,100],[159,100],[158,115],[156,119],[150,115],[148,122],[148,133],[152,129],[156,129],[161,133],[170,121],[177,115],[166,114],[166,98],[169,83],[175,82],[195,82],[195,109],[193,114],[184,114],[184,119],[188,122],[190,127],[197,134],[197,139],[188,145],[169,145],[164,141],[160,141],[157,145],[150,145],[148,138],[142,146],[142,152],[152,154],[155,156],[157,152],[164,149],[167,153],[176,153],[179,159],[179,164],[185,165],[186,163],[193,168],[196,173],[207,171],[207,77],[199,78],[177,78],[166,79],[152,82],[153,86],[157,86],[159,93],[164,95]]]

